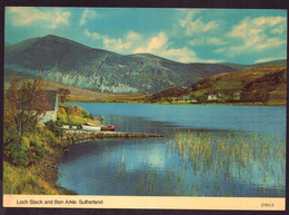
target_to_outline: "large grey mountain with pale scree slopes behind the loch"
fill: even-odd
[[[119,55],[46,36],[4,46],[6,78],[12,74],[101,92],[153,94],[239,70],[229,63],[181,63],[149,53]]]

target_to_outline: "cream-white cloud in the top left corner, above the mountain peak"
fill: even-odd
[[[11,25],[16,27],[30,26],[36,22],[54,29],[61,25],[69,25],[70,12],[58,8],[39,9],[31,7],[10,7],[7,9]]]

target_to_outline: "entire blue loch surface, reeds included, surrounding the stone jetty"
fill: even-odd
[[[285,196],[285,107],[70,105],[118,131],[165,135],[70,146],[58,184],[79,195]]]

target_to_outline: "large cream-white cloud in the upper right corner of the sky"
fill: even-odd
[[[283,17],[245,18],[233,26],[228,36],[239,41],[228,48],[228,55],[237,56],[245,51],[263,51],[265,49],[278,48],[287,45],[286,38],[287,19]],[[275,36],[272,36],[272,33]],[[277,37],[276,35],[280,35]],[[215,50],[221,52],[220,49]]]

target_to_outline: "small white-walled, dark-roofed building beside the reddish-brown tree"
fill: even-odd
[[[49,120],[57,120],[57,111],[58,111],[58,96],[57,96],[57,91],[56,90],[47,90],[44,98],[48,101],[48,109],[46,111],[46,114],[40,117],[39,123],[40,124],[44,124]]]

